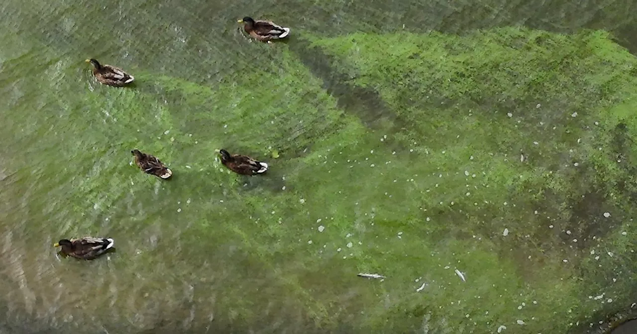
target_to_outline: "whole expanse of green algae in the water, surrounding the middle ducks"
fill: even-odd
[[[52,79],[12,109],[29,115],[14,116],[20,139],[39,141],[24,156],[38,182],[24,172],[18,184],[56,193],[29,207],[59,223],[29,233],[47,247],[50,235],[114,237],[108,262],[64,261],[56,274],[78,282],[64,273],[97,270],[96,286],[148,298],[118,299],[101,319],[144,328],[196,305],[199,324],[214,311],[235,326],[292,315],[325,331],[531,333],[630,304],[635,60],[606,33],[304,36],[392,117],[366,127],[285,45],[240,75],[201,83],[138,69],[123,90],[55,50],[32,56]],[[215,159],[222,147],[280,158],[242,177]],[[174,178],[131,166],[132,148]],[[71,299],[101,292],[68,289]],[[74,312],[88,321],[100,305]],[[150,320],[131,316],[140,309]]]

